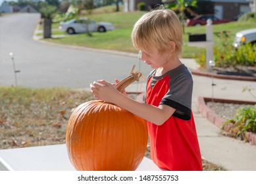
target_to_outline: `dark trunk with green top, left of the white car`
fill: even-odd
[[[39,12],[41,12],[41,18],[43,18],[43,38],[51,37],[51,20],[57,9],[57,7],[47,3],[39,9]]]

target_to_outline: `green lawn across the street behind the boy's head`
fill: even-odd
[[[83,47],[92,47],[98,49],[110,49],[116,51],[126,51],[136,53],[136,49],[132,47],[130,34],[134,23],[143,15],[143,11],[135,12],[108,12],[101,14],[86,15],[92,20],[102,22],[112,22],[115,25],[115,30],[105,33],[93,33],[92,37],[86,34],[76,34],[69,37],[47,39],[54,43],[66,45],[79,45]],[[58,28],[59,24],[53,24],[53,28]],[[216,24],[213,26],[215,47],[220,43],[218,32],[228,31],[229,39],[233,39],[236,32],[244,29],[255,28],[253,22],[229,22],[226,24]],[[188,47],[188,34],[192,33],[205,33],[205,26],[186,27],[184,37],[183,54],[184,58],[198,58],[204,49],[197,47]],[[59,31],[53,31],[53,35],[62,34]]]

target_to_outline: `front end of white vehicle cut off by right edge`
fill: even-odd
[[[256,44],[256,28],[237,32],[234,38],[233,47],[238,48],[245,43]]]

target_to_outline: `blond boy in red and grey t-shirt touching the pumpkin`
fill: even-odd
[[[151,158],[163,170],[202,170],[192,114],[192,76],[178,58],[182,28],[174,11],[147,12],[132,30],[141,60],[154,70],[147,78],[145,103],[118,92],[105,81],[91,83],[91,93],[147,120]]]

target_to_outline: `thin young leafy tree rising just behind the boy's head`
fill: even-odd
[[[197,7],[197,0],[177,0],[176,3],[168,5],[169,9],[176,11],[182,23],[183,33],[185,32],[186,14],[185,11],[191,11],[189,7]]]

